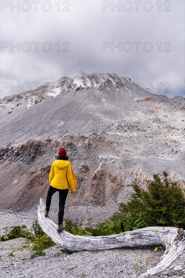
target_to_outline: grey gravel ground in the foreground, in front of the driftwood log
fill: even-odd
[[[45,250],[45,256],[30,259],[31,250],[16,251],[26,246],[25,239],[1,244],[1,277],[120,277],[134,278],[132,261],[149,261],[149,268],[159,263],[163,251],[153,249],[111,249],[69,253],[55,245]],[[13,253],[14,256],[8,256]]]

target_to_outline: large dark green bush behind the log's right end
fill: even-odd
[[[127,204],[120,203],[119,209],[110,217],[111,221],[122,219],[124,213],[141,214],[145,226],[176,226],[185,229],[185,196],[177,182],[170,182],[163,171],[153,174],[154,180],[146,180],[148,189],[140,187],[137,180],[130,184],[134,192]]]

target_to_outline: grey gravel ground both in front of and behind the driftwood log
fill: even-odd
[[[69,212],[70,210],[66,211],[66,216],[68,216]],[[97,212],[97,214],[99,213]],[[51,216],[57,222],[57,210],[53,210]],[[4,233],[3,227],[5,226],[26,224],[30,228],[32,222],[37,219],[36,207],[29,211],[15,214],[10,211],[3,211],[0,217],[1,235]],[[161,250],[155,252],[153,249],[128,248],[69,253],[56,245],[46,249],[45,256],[30,259],[31,249],[25,249],[28,246],[30,246],[29,242],[25,242],[23,238],[0,242],[1,277],[134,278],[136,275],[133,261],[138,262],[138,259],[141,258],[142,262],[144,262],[152,258],[148,264],[148,268],[151,268],[160,262],[163,255]],[[11,253],[13,253],[13,256],[9,256]],[[185,259],[183,254],[178,258],[178,264],[174,269],[167,269],[162,274],[148,277],[185,278]]]

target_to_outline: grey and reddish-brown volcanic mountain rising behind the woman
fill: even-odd
[[[133,178],[145,187],[163,170],[185,187],[183,97],[153,94],[115,73],[79,71],[0,101],[4,209],[45,198],[60,147],[78,182],[68,206],[117,207]]]

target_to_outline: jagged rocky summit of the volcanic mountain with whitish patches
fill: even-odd
[[[98,94],[100,92],[108,93],[108,95],[111,93],[112,96],[122,94],[122,96],[126,98],[129,95],[132,100],[136,101],[147,97],[160,98],[156,94],[136,85],[130,78],[126,76],[121,77],[116,73],[87,73],[83,70],[79,70],[73,77],[62,76],[58,80],[49,83],[50,86],[40,85],[37,89],[22,92],[9,97],[5,101],[10,102],[14,99],[24,97],[28,101],[27,108],[30,108],[33,104],[42,101],[45,97],[49,96],[55,98],[67,92],[76,92],[78,90],[86,90],[87,94],[89,90],[92,90],[95,96],[97,91]]]

